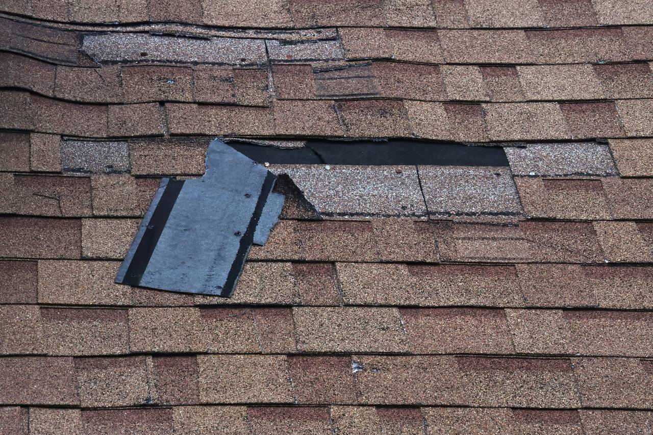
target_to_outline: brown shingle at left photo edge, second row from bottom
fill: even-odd
[[[0,358],[0,403],[79,405],[69,357]]]

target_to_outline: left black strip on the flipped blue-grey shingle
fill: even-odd
[[[150,263],[150,258],[157,246],[157,242],[159,242],[161,233],[163,233],[163,228],[168,221],[172,207],[177,201],[180,191],[182,191],[183,182],[184,180],[175,180],[174,178],[168,180],[163,195],[161,195],[161,199],[159,199],[159,203],[152,213],[148,226],[138,243],[138,248],[136,248],[127,272],[125,272],[125,277],[122,280],[123,284],[135,286],[140,284],[140,279],[145,273],[148,263]]]

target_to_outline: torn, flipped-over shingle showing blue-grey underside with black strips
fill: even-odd
[[[262,245],[281,214],[276,176],[221,140],[206,174],[163,178],[116,282],[230,297],[252,244]]]

